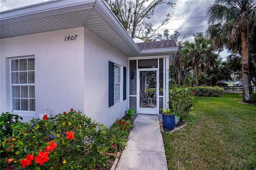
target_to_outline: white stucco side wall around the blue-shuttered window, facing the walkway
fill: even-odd
[[[84,112],[93,120],[109,127],[118,117],[122,118],[129,108],[128,90],[127,99],[123,101],[123,77],[121,77],[121,101],[108,107],[108,61],[127,68],[128,82],[128,57],[86,28],[84,39]],[[122,70],[121,68],[121,73]]]

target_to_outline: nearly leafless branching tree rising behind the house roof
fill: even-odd
[[[173,13],[168,13],[161,24],[154,29],[152,23],[146,22],[145,19],[150,19],[153,16],[156,6],[160,4],[167,4],[170,8],[176,6],[176,3],[172,3],[171,0],[152,0],[151,2],[149,0],[105,1],[131,38],[139,38],[144,41],[156,40],[158,35],[156,31],[167,24],[173,16]]]

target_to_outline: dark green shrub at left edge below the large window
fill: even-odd
[[[9,112],[2,113],[0,116],[0,138],[12,135],[12,127],[17,125],[22,120],[22,117]]]

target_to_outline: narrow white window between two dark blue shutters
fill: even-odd
[[[114,103],[120,101],[121,68],[114,65]]]

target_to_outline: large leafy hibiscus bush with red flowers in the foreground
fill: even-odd
[[[14,164],[24,169],[93,169],[106,166],[111,148],[106,143],[106,131],[80,112],[44,115],[12,127],[12,136],[1,138],[1,169]]]

